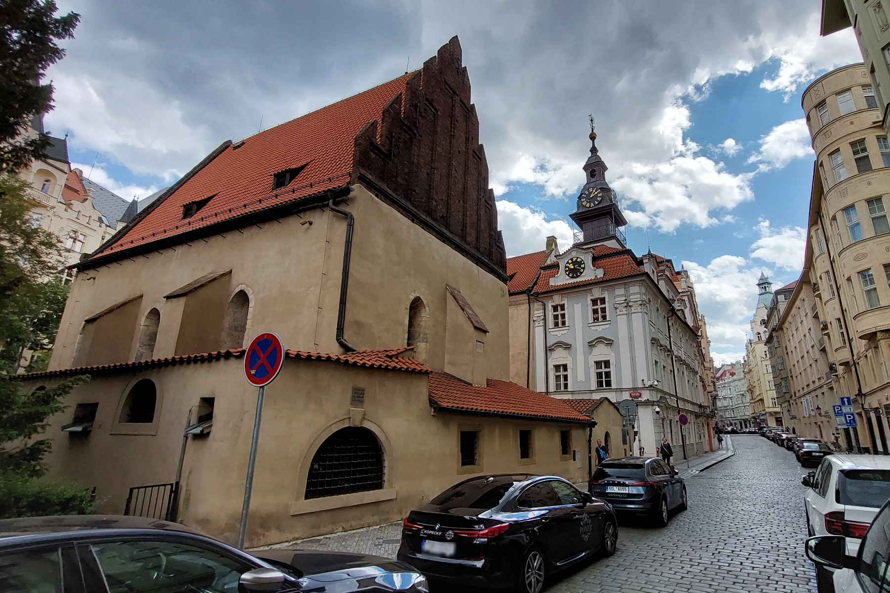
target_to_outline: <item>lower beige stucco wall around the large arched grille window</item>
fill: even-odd
[[[215,397],[211,433],[189,437],[180,519],[224,541],[236,541],[256,402],[256,389],[243,373],[243,359],[230,358],[94,377],[69,396],[72,407],[52,419],[47,433],[54,439],[48,456],[50,477],[96,486],[102,512],[123,512],[130,487],[174,481],[189,408],[198,405],[200,397]],[[142,378],[158,386],[154,424],[117,423],[126,393]],[[40,384],[48,383],[29,381],[28,389]],[[351,410],[353,387],[365,389],[361,411]],[[74,405],[86,402],[99,402],[92,433],[86,437],[62,433],[60,427],[70,421]],[[382,443],[383,492],[392,495],[389,500],[301,512],[381,493],[336,497],[339,502],[303,501],[315,450],[325,437],[351,423],[372,430]],[[597,427],[595,438],[604,426]],[[481,431],[481,468],[473,473],[460,468],[460,429]],[[533,431],[531,461],[519,459],[520,429]],[[561,456],[561,429],[571,431],[576,461]],[[553,474],[582,481],[587,478],[587,429],[550,421],[433,414],[423,373],[288,358],[278,379],[266,389],[247,545],[399,520],[449,485],[481,472]]]

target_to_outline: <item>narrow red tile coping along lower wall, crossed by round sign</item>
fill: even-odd
[[[386,350],[356,350],[346,354],[322,354],[320,352],[303,352],[301,350],[286,350],[287,357],[303,358],[307,360],[331,360],[347,365],[367,366],[370,368],[390,369],[392,371],[414,371],[416,373],[429,373],[430,369],[414,358],[402,358],[400,355],[410,348],[386,349]],[[140,362],[116,363],[114,365],[78,366],[76,368],[58,369],[56,371],[43,371],[40,373],[25,373],[16,375],[16,379],[36,379],[39,377],[56,377],[62,375],[93,374],[114,370],[142,370],[153,369],[160,366],[190,365],[193,363],[207,363],[223,358],[240,357],[245,349],[218,350],[204,354],[190,354],[180,357],[153,358]]]

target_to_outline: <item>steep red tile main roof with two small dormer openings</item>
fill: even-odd
[[[405,91],[410,76],[400,76],[223,148],[93,257],[343,187],[350,181],[355,136],[380,119],[384,106]],[[286,188],[272,190],[272,175],[303,166]],[[182,220],[182,206],[208,197],[210,202],[198,213]]]

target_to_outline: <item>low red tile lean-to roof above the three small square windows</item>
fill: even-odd
[[[565,400],[496,379],[489,379],[485,387],[479,387],[447,373],[430,373],[429,397],[430,405],[448,410],[538,420],[590,421],[566,405]]]

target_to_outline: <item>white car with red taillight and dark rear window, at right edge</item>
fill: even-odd
[[[843,535],[846,553],[855,556],[859,542],[890,499],[890,457],[837,455],[803,477],[807,533]]]

